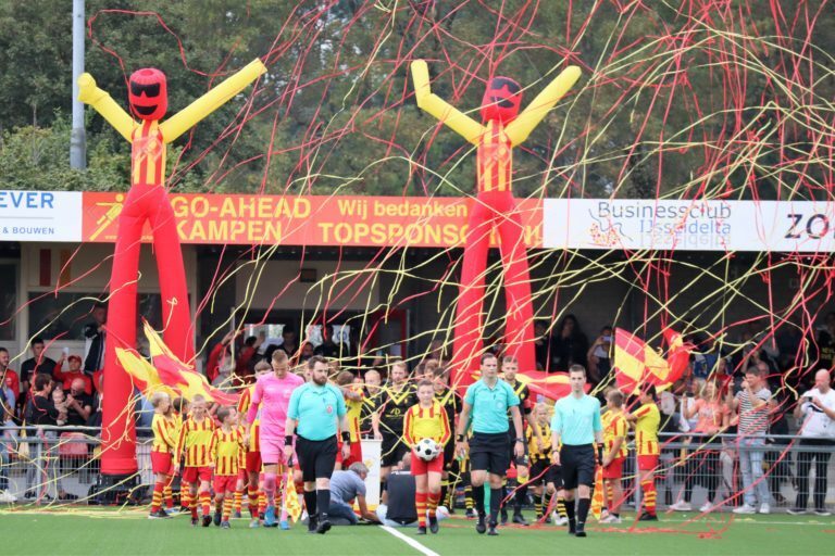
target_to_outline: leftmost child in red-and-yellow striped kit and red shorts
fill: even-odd
[[[153,497],[151,498],[151,514],[149,518],[171,517],[162,509],[163,495],[165,506],[172,509],[174,501],[171,495],[171,481],[174,478],[174,451],[177,447],[177,417],[171,406],[171,397],[164,392],[157,392],[151,396],[153,405],[153,445],[151,446],[151,469],[157,475],[153,484]]]

